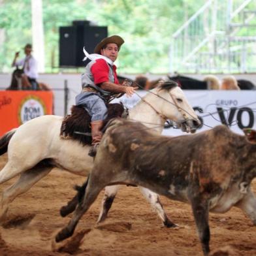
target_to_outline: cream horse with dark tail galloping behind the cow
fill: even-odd
[[[195,132],[200,123],[182,89],[173,83],[152,89],[129,110],[129,118],[141,121],[148,129],[154,129],[159,134],[167,118],[179,123],[186,132]],[[8,204],[12,200],[29,190],[54,167],[88,176],[93,167],[93,158],[88,156],[89,146],[61,138],[59,133],[62,121],[61,116],[40,116],[0,139],[0,154],[7,152],[8,146],[8,162],[0,172],[0,184],[20,175],[13,185],[3,191],[0,219],[5,218]],[[117,189],[114,186],[106,187],[106,195],[116,193]],[[167,225],[168,219],[157,194],[142,187],[140,189]],[[103,212],[99,220],[104,219]]]

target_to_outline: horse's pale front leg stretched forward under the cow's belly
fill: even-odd
[[[177,225],[173,223],[170,219],[168,219],[167,214],[165,214],[165,210],[163,210],[163,205],[161,204],[159,200],[159,196],[150,191],[149,189],[146,189],[145,187],[139,187],[142,195],[146,197],[148,202],[150,202],[152,208],[157,212],[160,219],[163,221],[163,225],[165,227],[176,227]]]

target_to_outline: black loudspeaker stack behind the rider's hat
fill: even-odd
[[[59,33],[59,66],[84,67],[83,47],[92,54],[96,44],[108,37],[108,28],[74,21],[71,27],[59,27]]]

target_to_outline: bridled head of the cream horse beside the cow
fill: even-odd
[[[197,131],[200,120],[176,82],[161,82],[152,92],[158,96],[155,101],[158,101],[159,112],[165,119],[176,122],[187,133]]]

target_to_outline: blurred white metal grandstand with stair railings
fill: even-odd
[[[255,59],[255,0],[208,0],[172,35],[170,73],[252,73]]]

